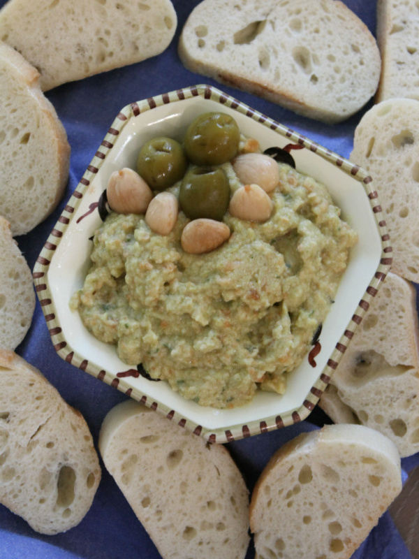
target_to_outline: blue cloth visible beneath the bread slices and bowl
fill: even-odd
[[[0,6],[4,3],[5,1],[0,0]],[[29,5],[30,3],[28,0]],[[170,92],[180,87],[210,83],[304,136],[316,140],[344,157],[349,156],[353,145],[353,132],[362,112],[343,124],[335,126],[321,124],[299,117],[256,96],[220,86],[209,78],[187,71],[182,66],[177,56],[177,41],[186,17],[197,3],[197,0],[173,0],[178,17],[177,33],[168,50],[158,57],[63,85],[47,93],[68,134],[72,150],[71,169],[63,201],[54,214],[28,235],[17,238],[31,269],[113,119],[122,107],[133,101]],[[346,0],[345,3],[358,14],[374,34],[376,2]],[[63,50],[65,48],[63,45]],[[39,368],[69,404],[80,409],[91,429],[94,441],[97,442],[105,414],[126,396],[57,356],[38,302],[32,326],[24,342],[17,348],[17,353]],[[237,460],[249,488],[252,488],[263,466],[281,444],[303,430],[318,428],[324,421],[328,419],[315,410],[308,421],[297,426],[228,444],[228,449]],[[408,472],[418,463],[418,455],[405,459],[404,470]],[[27,557],[159,559],[160,556],[119,488],[103,467],[103,479],[89,513],[80,525],[64,534],[49,537],[39,535],[31,530],[22,518],[0,505],[0,559]],[[254,551],[251,546],[247,559],[253,557]],[[377,528],[372,531],[354,557],[357,559],[411,558],[388,513],[381,518]]]

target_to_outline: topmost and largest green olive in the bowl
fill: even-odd
[[[221,165],[237,154],[240,130],[237,122],[224,112],[206,112],[186,130],[186,156],[196,165]]]

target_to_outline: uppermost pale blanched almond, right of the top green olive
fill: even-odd
[[[237,177],[244,184],[258,184],[265,192],[270,192],[279,184],[277,161],[263,153],[244,153],[233,161]]]

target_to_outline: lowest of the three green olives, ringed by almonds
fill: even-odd
[[[193,167],[179,191],[179,204],[190,219],[207,217],[221,221],[230,202],[230,184],[220,167]]]

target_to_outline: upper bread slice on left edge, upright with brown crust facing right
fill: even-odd
[[[0,42],[0,215],[14,237],[50,215],[68,180],[66,131],[38,78],[19,52]]]

